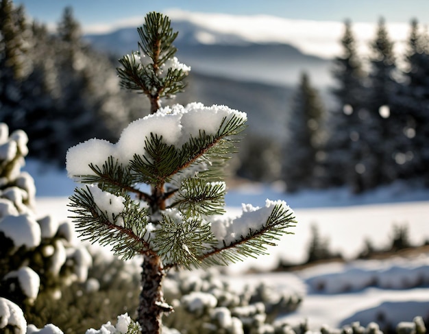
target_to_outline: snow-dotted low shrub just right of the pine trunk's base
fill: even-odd
[[[175,312],[164,325],[181,333],[270,333],[280,314],[299,307],[302,296],[266,284],[232,289],[216,272],[175,272],[164,282]]]

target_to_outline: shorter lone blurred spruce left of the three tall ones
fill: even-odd
[[[283,174],[287,191],[296,191],[315,185],[323,141],[325,108],[307,73],[301,75],[289,116]]]

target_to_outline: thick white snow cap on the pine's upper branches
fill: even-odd
[[[227,106],[204,106],[192,103],[187,106],[176,104],[130,123],[121,134],[118,143],[112,144],[102,139],[90,139],[71,147],[66,154],[66,169],[70,178],[93,175],[90,163],[101,167],[109,156],[127,165],[134,154],[146,155],[145,140],[151,133],[160,137],[168,145],[182,147],[191,136],[199,136],[200,131],[215,134],[223,119],[238,117],[247,120],[245,112]]]

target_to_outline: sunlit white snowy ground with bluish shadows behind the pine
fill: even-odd
[[[63,221],[69,215],[67,196],[75,185],[63,172],[27,163],[36,180],[37,212]],[[42,173],[44,171],[44,173]],[[249,267],[271,269],[278,259],[302,262],[310,241],[310,226],[317,225],[322,237],[330,239],[332,250],[352,259],[363,249],[365,238],[383,248],[391,240],[394,225],[407,225],[416,245],[429,240],[429,191],[406,187],[398,182],[362,196],[345,189],[308,191],[284,195],[275,187],[242,187],[226,198],[228,212],[235,215],[241,202],[263,205],[265,198],[282,199],[295,209],[298,224],[295,235],[286,235],[270,256],[230,267],[236,285],[262,280],[280,288],[297,289],[306,294],[299,309],[286,317],[291,322],[308,319],[312,329],[322,324],[341,326],[353,321],[411,321],[415,315],[429,319],[429,255],[403,261],[358,261],[312,267],[302,272],[242,276]],[[417,283],[416,283],[417,282]],[[423,284],[422,284],[423,283]],[[419,285],[418,287],[414,287]],[[423,287],[422,287],[423,286]],[[322,290],[321,287],[323,287]]]

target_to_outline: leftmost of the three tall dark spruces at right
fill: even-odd
[[[334,58],[332,94],[336,108],[327,117],[326,169],[332,185],[347,184],[354,193],[363,191],[360,163],[364,143],[362,117],[365,115],[366,73],[356,50],[352,23],[345,21],[341,46],[343,54]]]

